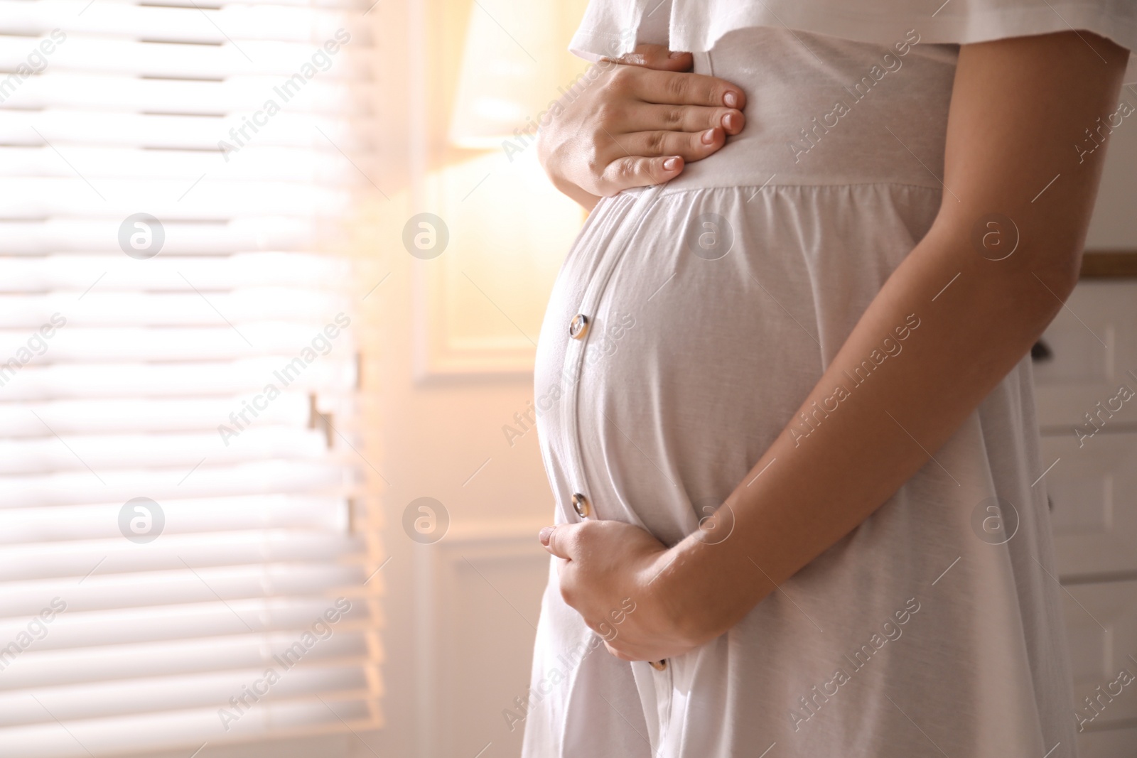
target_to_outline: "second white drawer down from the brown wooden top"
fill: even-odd
[[[1137,576],[1137,433],[1043,436],[1041,450],[1060,576]]]

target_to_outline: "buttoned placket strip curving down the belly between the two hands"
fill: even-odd
[[[636,198],[636,201],[625,216],[625,222],[634,219],[634,223],[621,225],[613,239],[605,245],[604,257],[584,289],[576,315],[573,316],[568,324],[568,335],[571,339],[565,348],[564,370],[562,372],[562,378],[568,381],[568,388],[565,393],[565,401],[562,403],[563,416],[561,427],[565,430],[567,438],[565,449],[568,453],[568,476],[572,481],[571,486],[573,488],[571,502],[573,511],[579,519],[594,516],[591,503],[588,500],[588,486],[584,482],[583,452],[581,450],[580,426],[576,413],[578,390],[584,365],[584,350],[588,347],[589,326],[592,320],[588,314],[592,314],[595,318],[600,298],[607,289],[608,280],[612,277],[616,264],[623,258],[626,251],[628,240],[639,231],[639,224],[642,223],[644,208],[655,201],[663,186],[662,184],[652,186]],[[566,516],[572,520],[571,515],[566,514]]]

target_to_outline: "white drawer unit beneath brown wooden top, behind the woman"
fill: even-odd
[[[1034,355],[1078,751],[1137,758],[1137,278],[1084,278]]]

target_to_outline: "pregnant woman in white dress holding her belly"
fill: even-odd
[[[526,758],[1076,755],[1028,351],[1135,43],[1128,0],[592,0]]]

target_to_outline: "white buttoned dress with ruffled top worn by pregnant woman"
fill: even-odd
[[[573,49],[694,50],[697,73],[746,90],[747,125],[677,180],[592,211],[549,301],[536,405],[557,523],[580,519],[582,493],[591,517],[673,544],[792,420],[931,225],[954,41],[1060,30],[1026,13],[1039,3],[1005,0],[982,5],[1022,13],[989,28],[993,16],[952,15],[978,10],[966,0],[935,18],[937,2],[922,18],[904,15],[915,2],[857,3],[879,13],[849,36],[896,27],[869,40],[830,35],[840,14],[804,0],[656,2],[594,1]],[[1074,6],[1080,27],[1134,47],[1129,0],[1059,7]],[[583,339],[570,336],[576,314]],[[883,359],[904,360],[893,345]],[[524,758],[1074,756],[1029,358],[933,452],[850,535],[663,670],[609,656],[550,561],[531,688],[505,714],[524,726]]]

